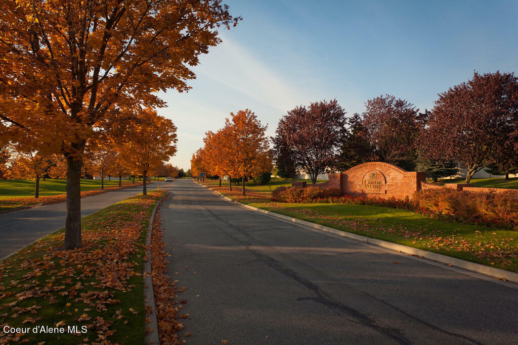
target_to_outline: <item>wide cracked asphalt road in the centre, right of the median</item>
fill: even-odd
[[[168,272],[188,287],[190,343],[518,343],[518,290],[249,211],[190,180],[167,188]]]

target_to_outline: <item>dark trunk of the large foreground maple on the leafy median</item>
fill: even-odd
[[[81,247],[81,167],[83,160],[68,156],[66,170],[66,221],[63,249]]]

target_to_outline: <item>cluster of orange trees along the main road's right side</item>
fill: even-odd
[[[250,110],[231,113],[225,119],[225,126],[217,132],[208,131],[204,147],[199,148],[191,159],[192,176],[200,174],[228,176],[228,186],[232,190],[232,178],[244,181],[251,176],[271,173],[272,158],[266,128]]]

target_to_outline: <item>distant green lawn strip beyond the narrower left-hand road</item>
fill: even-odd
[[[139,181],[136,179],[135,182]],[[132,180],[123,179],[122,184],[132,183]],[[104,180],[105,187],[118,186],[119,178],[112,177],[111,181]],[[35,181],[32,179],[2,179],[0,180],[0,200],[11,198],[34,197]],[[66,193],[66,179],[47,179],[39,181],[39,195],[53,196]],[[100,188],[100,181],[93,179],[81,179],[81,191]]]

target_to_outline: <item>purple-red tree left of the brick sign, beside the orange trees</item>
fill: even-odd
[[[285,138],[296,166],[308,172],[315,184],[320,173],[334,166],[346,125],[346,112],[337,100],[324,100],[290,110],[280,119],[276,137]]]

